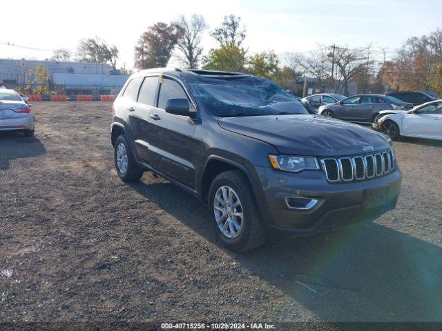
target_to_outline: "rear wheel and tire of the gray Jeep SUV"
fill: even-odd
[[[143,171],[140,170],[137,163],[135,163],[126,137],[123,134],[115,140],[114,161],[118,177],[121,178],[122,181],[139,181],[143,176]]]

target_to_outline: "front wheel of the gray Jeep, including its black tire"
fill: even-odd
[[[227,190],[227,196],[231,199],[227,199],[228,203],[225,204],[227,209],[224,210],[220,201],[223,188],[224,190],[230,189],[232,192],[229,195],[230,191]],[[235,205],[236,207],[233,207]],[[239,170],[222,172],[213,179],[209,189],[208,210],[209,221],[213,225],[218,240],[229,250],[246,252],[258,248],[267,240],[265,225],[262,223],[250,183]],[[242,214],[242,217],[236,214]],[[239,229],[237,225],[240,225]]]

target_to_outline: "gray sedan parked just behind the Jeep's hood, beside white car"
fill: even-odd
[[[383,94],[357,94],[330,105],[321,106],[318,113],[345,121],[376,123],[381,110],[410,110],[411,103],[405,103]]]

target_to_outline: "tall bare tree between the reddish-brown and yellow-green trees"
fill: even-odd
[[[180,32],[177,48],[184,56],[182,58],[184,65],[186,68],[198,68],[202,54],[201,34],[207,28],[204,17],[193,14],[191,19],[188,20],[180,15],[175,22],[175,26]]]

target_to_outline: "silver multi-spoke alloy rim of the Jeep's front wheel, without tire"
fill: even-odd
[[[244,215],[238,194],[224,185],[218,188],[213,199],[213,212],[218,228],[229,239],[238,237],[242,231]]]

